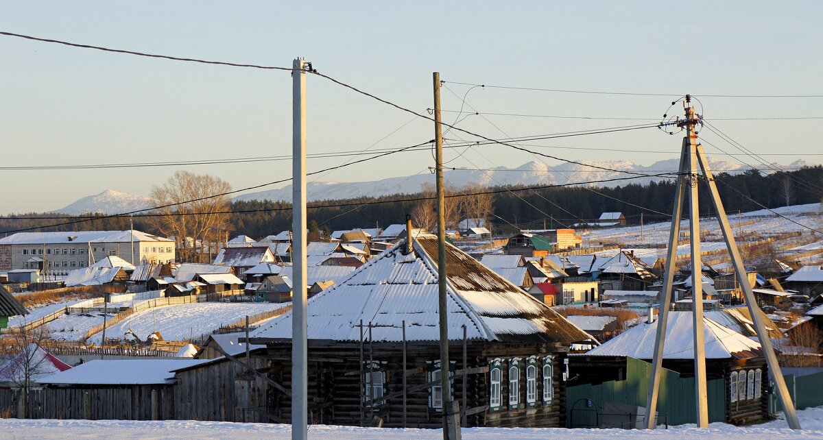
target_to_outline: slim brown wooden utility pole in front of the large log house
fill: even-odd
[[[443,187],[443,127],[440,119],[440,72],[432,73],[435,86],[435,178],[437,180],[437,285],[438,315],[440,324],[440,387],[443,402],[443,438],[460,438],[460,409],[452,401],[451,377],[449,375],[449,308],[446,302],[446,219],[445,192]],[[407,231],[409,240],[412,231]]]

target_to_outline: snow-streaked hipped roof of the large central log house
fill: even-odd
[[[405,240],[388,248],[344,280],[309,299],[309,339],[359,340],[360,320],[371,322],[374,340],[439,340],[437,239]],[[590,336],[532,295],[498,276],[451,244],[446,246],[449,340],[514,340],[570,343]],[[291,338],[291,312],[254,331],[253,337]]]

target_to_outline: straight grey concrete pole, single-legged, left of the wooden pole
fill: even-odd
[[[306,63],[295,58],[292,64],[292,192],[291,262],[294,276],[291,309],[291,438],[305,440],[309,420],[309,341],[306,317]]]

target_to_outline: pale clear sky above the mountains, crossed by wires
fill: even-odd
[[[696,95],[714,126],[770,162],[821,163],[821,2],[0,2],[0,30],[114,49],[319,72],[486,137],[522,137],[644,121],[667,96],[595,95],[463,86],[454,82]],[[0,35],[2,165],[218,160],[291,154],[289,72],[181,63]],[[465,104],[463,104],[465,100]],[[700,109],[698,109],[700,111]],[[680,113],[680,105],[672,112]],[[309,153],[409,146],[433,123],[307,78]],[[679,155],[681,136],[651,128],[530,143],[569,160],[649,165]],[[704,131],[705,141],[754,163]],[[446,132],[447,141],[468,139]],[[539,145],[539,146],[538,146]],[[718,153],[705,145],[709,155]],[[532,147],[530,147],[532,148]],[[599,148],[608,151],[583,150]],[[638,152],[644,151],[644,152]],[[653,151],[653,152],[649,152]],[[446,150],[449,166],[517,167],[535,156],[507,146]],[[718,155],[724,159],[728,156]],[[309,171],[350,158],[308,161]],[[546,160],[554,165],[560,162]],[[425,172],[427,151],[399,153],[319,178],[358,182]],[[0,212],[50,211],[105,189],[147,196],[176,169],[233,188],[291,177],[291,162],[129,169],[0,170]],[[434,179],[434,177],[432,177]],[[282,185],[279,185],[282,186]],[[278,188],[272,186],[271,189]]]

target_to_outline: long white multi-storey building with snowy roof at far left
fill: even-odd
[[[174,240],[137,230],[21,232],[0,239],[0,271],[42,268],[66,275],[110,255],[136,266],[174,262]]]

